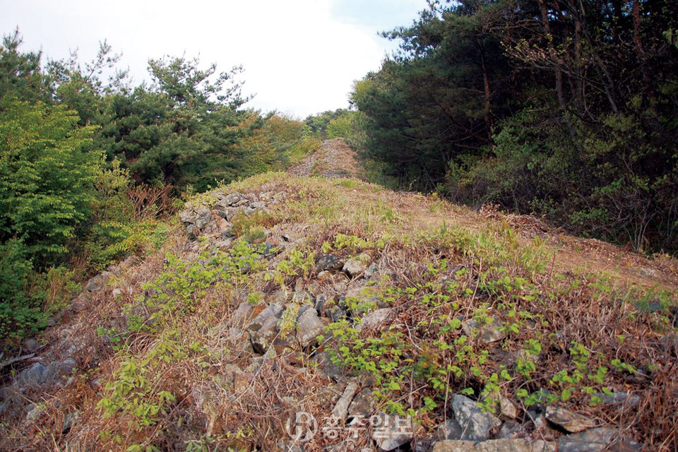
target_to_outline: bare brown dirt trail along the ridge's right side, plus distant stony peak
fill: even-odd
[[[317,175],[330,178],[361,179],[362,170],[357,155],[343,140],[335,138],[323,142],[321,148],[309,154],[288,172],[296,176]],[[356,184],[346,188],[355,202],[371,202],[374,206],[388,206],[406,230],[433,232],[445,222],[448,227],[460,227],[472,232],[491,232],[492,224],[502,222],[518,235],[521,245],[533,244],[535,237],[542,240],[550,252],[556,250],[554,270],[568,273],[595,271],[608,273],[615,285],[678,287],[678,261],[661,256],[649,259],[621,246],[597,239],[574,237],[545,225],[531,215],[499,213],[481,208],[475,212],[465,206],[408,191],[391,191],[375,184]],[[352,196],[347,197],[348,201]]]

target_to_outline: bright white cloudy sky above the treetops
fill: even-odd
[[[199,57],[218,71],[244,66],[246,107],[303,119],[348,107],[353,82],[397,44],[377,32],[410,25],[426,0],[0,0],[0,31],[24,52],[91,61],[99,42],[121,53],[134,85],[148,59]]]

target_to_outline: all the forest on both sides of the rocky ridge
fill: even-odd
[[[159,246],[191,194],[342,136],[368,177],[533,214],[645,254],[678,250],[678,4],[429,1],[350,109],[246,107],[243,68],[0,46],[0,337],[39,331],[83,281]]]

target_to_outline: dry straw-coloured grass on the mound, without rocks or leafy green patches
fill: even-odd
[[[355,179],[320,179],[286,174],[265,174],[237,182],[227,191],[263,193],[283,191],[288,196],[274,208],[274,222],[268,242],[284,251],[263,259],[264,268],[246,278],[223,281],[191,294],[194,309],[170,312],[163,321],[166,328],[156,331],[130,331],[129,310],[125,304],[141,309],[138,300],[153,292],[145,286],[166,271],[165,256],[172,253],[184,262],[198,262],[201,249],[186,242],[182,228],[172,232],[164,249],[141,262],[130,262],[105,290],[81,295],[79,309],[67,317],[66,323],[52,328],[44,338],[47,359],[56,360],[69,344],[78,347],[78,371],[73,380],[40,393],[26,393],[29,400],[40,402],[44,410],[35,422],[23,422],[23,413],[3,420],[0,447],[6,450],[44,451],[125,451],[134,444],[153,445],[160,450],[184,451],[187,444],[203,444],[206,449],[275,450],[285,439],[285,420],[295,410],[307,411],[317,419],[327,417],[343,386],[324,378],[309,364],[309,355],[283,352],[275,357],[254,357],[260,365],[246,371],[245,383],[230,381],[229,369],[246,368],[252,362],[251,352],[239,350],[238,342],[228,339],[230,319],[237,302],[245,293],[257,293],[258,309],[277,296],[279,288],[266,274],[290,256],[293,249],[304,256],[321,254],[324,244],[331,244],[338,234],[361,237],[369,243],[361,249],[345,248],[334,252],[340,257],[368,251],[380,275],[387,279],[372,287],[377,294],[393,290],[396,295],[388,304],[396,310],[391,333],[398,333],[401,347],[414,362],[429,367],[444,367],[454,358],[453,352],[440,350],[440,341],[452,343],[460,331],[442,331],[439,319],[462,316],[470,319],[485,307],[499,321],[509,322],[510,311],[525,311],[535,321],[524,322],[520,332],[510,334],[496,347],[471,341],[472,356],[460,364],[461,376],[448,373],[448,389],[435,389],[424,378],[425,372],[410,364],[391,376],[400,379],[400,389],[388,393],[392,401],[421,410],[424,398],[436,400],[438,407],[421,411],[418,420],[421,432],[431,432],[447,415],[446,392],[472,389],[478,396],[489,376],[501,366],[511,369],[513,379],[501,383],[501,393],[519,408],[527,410],[517,391],[530,392],[551,388],[549,380],[559,371],[570,373],[576,368],[570,350],[573,343],[583,344],[590,351],[588,369],[609,368],[605,385],[592,385],[596,390],[607,386],[641,396],[637,408],[593,406],[585,395],[576,392],[568,400],[559,401],[577,412],[593,417],[601,424],[620,427],[648,450],[672,451],[678,448],[678,355],[660,338],[675,328],[670,325],[669,308],[643,311],[643,299],[655,302],[658,292],[649,287],[677,285],[675,261],[662,258],[652,261],[614,246],[585,239],[573,239],[547,230],[532,218],[516,218],[497,212],[473,213],[439,199],[417,194],[394,193]],[[210,196],[196,202],[211,202]],[[293,232],[300,239],[287,244],[283,234]],[[535,239],[537,237],[537,239]],[[212,251],[206,243],[208,251]],[[440,263],[446,262],[441,268]],[[432,272],[431,266],[438,271]],[[638,266],[649,269],[640,275]],[[604,271],[609,278],[601,275]],[[343,273],[319,279],[314,270],[307,278],[290,276],[285,284],[294,292],[297,280],[312,295],[326,292],[340,297],[358,290],[364,282],[351,280]],[[511,290],[489,290],[487,281],[501,278],[525,283]],[[448,283],[456,283],[450,289]],[[122,288],[121,297],[112,290]],[[406,295],[408,288],[413,292]],[[389,292],[391,293],[391,292]],[[537,297],[532,297],[538,294]],[[439,304],[427,304],[424,295],[448,297]],[[675,303],[673,295],[662,295]],[[136,301],[135,301],[136,300]],[[143,311],[141,309],[139,312]],[[145,315],[148,312],[144,311]],[[222,326],[222,327],[220,327]],[[114,350],[107,336],[97,333],[115,328],[121,333],[124,349]],[[221,328],[221,329],[220,329]],[[366,331],[363,335],[381,338],[383,331]],[[620,337],[623,335],[624,340]],[[537,370],[529,379],[513,370],[516,354],[529,340],[543,345]],[[176,347],[181,352],[167,362],[150,359],[158,347]],[[355,345],[347,342],[351,347]],[[326,343],[320,350],[333,350]],[[397,348],[394,347],[394,348]],[[320,351],[319,350],[319,351]],[[488,359],[479,360],[483,351]],[[147,364],[149,394],[169,391],[174,401],[166,404],[164,414],[155,417],[148,427],[138,428],[124,412],[106,417],[97,408],[111,391],[109,382],[119,379],[121,364],[129,359],[149,359]],[[393,359],[386,355],[384,359]],[[633,365],[637,371],[614,369],[612,359]],[[482,361],[482,362],[481,362]],[[423,364],[422,364],[423,365]],[[476,374],[474,368],[480,369]],[[354,371],[347,367],[350,374]],[[407,374],[398,374],[407,372]],[[417,373],[418,372],[418,373]],[[374,383],[357,372],[362,384]],[[370,381],[372,380],[372,381]],[[242,386],[241,386],[242,385]],[[385,402],[384,402],[385,403]],[[382,404],[382,408],[385,407]],[[78,420],[67,434],[61,433],[66,415],[78,412]],[[107,439],[101,433],[107,432]],[[542,432],[530,432],[539,436]],[[119,437],[119,441],[115,438]],[[367,436],[362,439],[367,444]],[[321,451],[326,440],[318,438],[308,444],[307,451]],[[196,449],[198,450],[198,449]]]

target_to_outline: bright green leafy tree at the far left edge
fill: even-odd
[[[19,240],[45,267],[91,213],[100,153],[64,106],[0,103],[0,242]]]

